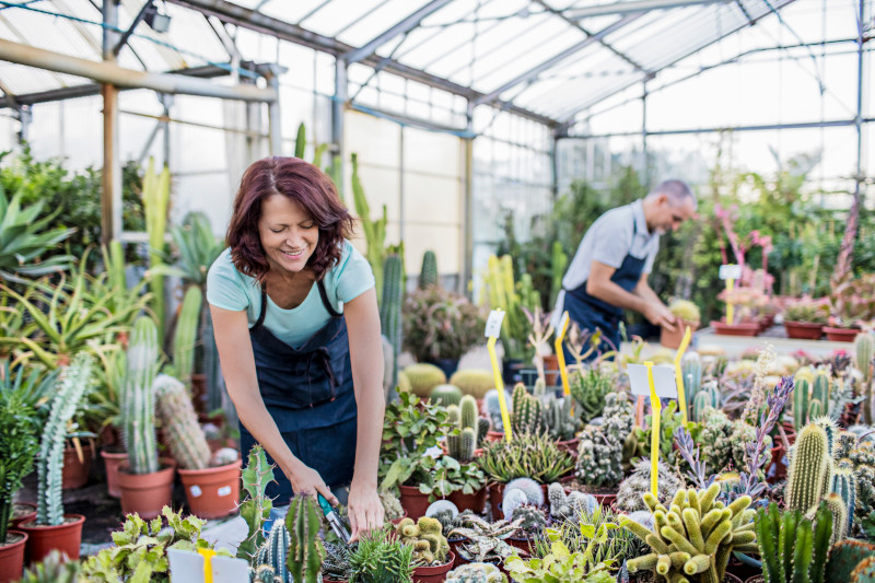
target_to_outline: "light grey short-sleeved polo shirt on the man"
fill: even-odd
[[[627,255],[644,261],[644,273],[653,269],[653,260],[660,250],[660,235],[648,231],[642,200],[607,211],[596,219],[586,231],[578,247],[578,253],[562,278],[562,288],[573,290],[581,287],[590,277],[593,261],[619,269]],[[556,299],[551,322],[559,326],[564,310],[565,292],[560,291]]]

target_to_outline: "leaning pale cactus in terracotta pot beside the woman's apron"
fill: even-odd
[[[210,452],[183,383],[160,374],[154,390],[159,419],[173,457],[179,464],[177,470],[191,513],[201,518],[219,518],[235,512],[242,463],[236,450],[224,447],[218,455]]]

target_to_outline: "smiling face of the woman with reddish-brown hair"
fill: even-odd
[[[319,242],[319,229],[304,207],[279,194],[261,203],[258,234],[270,268],[291,272],[304,269]]]

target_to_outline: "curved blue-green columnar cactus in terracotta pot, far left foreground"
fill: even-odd
[[[38,561],[51,549],[79,558],[82,539],[81,514],[65,514],[61,502],[61,467],[67,423],[75,412],[79,400],[91,381],[92,359],[77,354],[70,366],[60,374],[58,392],[51,401],[51,411],[43,427],[37,460],[38,490],[36,518],[24,522],[19,528],[27,533],[27,560]]]

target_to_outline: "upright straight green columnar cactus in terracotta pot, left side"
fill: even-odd
[[[145,520],[161,515],[173,493],[174,467],[158,458],[154,388],[158,372],[158,328],[149,316],[133,324],[128,365],[121,386],[121,425],[128,460],[118,466],[121,510]]]

